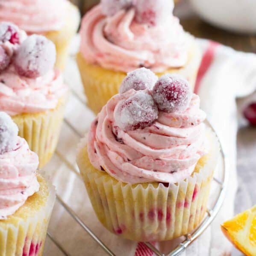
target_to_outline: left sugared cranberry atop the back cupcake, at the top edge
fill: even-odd
[[[132,0],[101,0],[102,13],[106,16],[115,15],[121,9],[132,6]]]

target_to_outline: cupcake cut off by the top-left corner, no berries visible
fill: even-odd
[[[56,67],[64,69],[80,14],[68,0],[1,0],[0,21],[9,21],[27,34],[40,34],[56,46]]]

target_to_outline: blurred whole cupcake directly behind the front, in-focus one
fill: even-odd
[[[77,63],[94,113],[136,68],[150,68],[159,77],[177,73],[194,87],[200,50],[172,15],[173,7],[172,0],[102,0],[84,16]]]

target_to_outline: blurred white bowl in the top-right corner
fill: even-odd
[[[256,0],[190,0],[195,12],[212,25],[256,33]]]

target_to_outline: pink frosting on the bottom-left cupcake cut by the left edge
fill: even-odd
[[[6,219],[39,190],[38,156],[17,136],[13,150],[0,154],[0,219]]]

